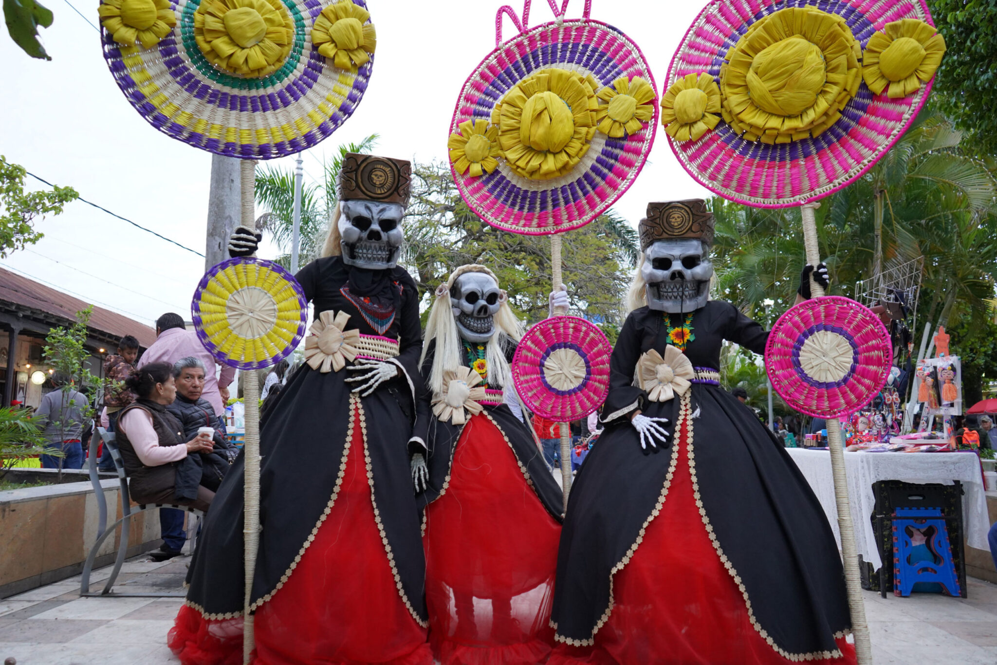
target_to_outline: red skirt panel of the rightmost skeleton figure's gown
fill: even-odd
[[[558,644],[548,665],[789,665],[752,625],[744,596],[720,560],[693,495],[688,430],[661,511],[630,561],[613,576],[614,604],[594,647]],[[707,444],[701,444],[707,445]],[[838,659],[854,647],[836,640]]]

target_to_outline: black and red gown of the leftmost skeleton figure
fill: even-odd
[[[432,665],[420,513],[407,452],[421,388],[419,296],[402,268],[338,256],[296,275],[315,316],[397,340],[399,377],[368,397],[345,368],[302,365],[260,427],[261,533],[252,587],[257,665]],[[169,631],[183,665],[242,662],[243,456],[207,512]]]

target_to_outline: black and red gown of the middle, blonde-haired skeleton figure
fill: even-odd
[[[436,342],[429,342],[429,381]],[[511,357],[514,346],[509,344]],[[467,358],[464,364],[470,367]],[[510,388],[511,390],[511,388]],[[563,497],[529,426],[488,388],[466,425],[419,404],[430,643],[443,665],[533,665],[553,644],[550,600]]]

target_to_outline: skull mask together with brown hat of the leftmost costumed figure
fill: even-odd
[[[369,270],[398,264],[411,179],[412,165],[405,160],[346,155],[336,187],[344,263]]]

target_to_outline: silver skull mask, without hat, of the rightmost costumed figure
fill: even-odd
[[[641,274],[647,282],[648,307],[669,313],[692,312],[706,305],[713,263],[701,240],[656,240],[644,250]]]

